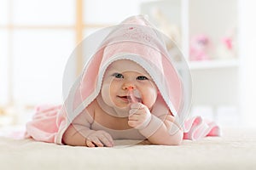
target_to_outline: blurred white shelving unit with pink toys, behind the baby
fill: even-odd
[[[239,105],[240,60],[245,56],[240,56],[238,43],[238,1],[159,0],[142,5],[143,14],[148,14],[150,21],[166,31],[166,35],[172,37],[172,33],[177,33],[173,39],[177,39],[191,71],[192,108],[210,105],[213,114],[217,114],[216,109],[222,105]],[[205,48],[209,60],[189,60],[191,41],[198,35],[204,35],[209,40]],[[233,51],[228,51],[225,46],[225,37],[234,40]]]

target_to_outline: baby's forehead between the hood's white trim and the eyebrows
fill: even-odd
[[[148,75],[148,72],[145,71],[141,65],[138,65],[136,62],[130,59],[119,59],[113,61],[113,63],[108,66],[108,71],[136,71]]]

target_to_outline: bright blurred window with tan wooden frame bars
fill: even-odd
[[[76,45],[139,14],[143,1],[0,0],[0,107],[60,104],[63,71]]]

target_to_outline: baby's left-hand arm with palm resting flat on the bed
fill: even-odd
[[[90,108],[84,110],[73,120],[63,134],[63,143],[88,147],[113,146],[113,139],[107,132],[90,129],[93,118],[89,112]]]

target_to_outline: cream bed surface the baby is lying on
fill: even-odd
[[[179,146],[86,148],[0,137],[0,169],[256,169],[256,130],[226,129],[221,137]]]

